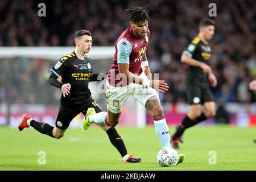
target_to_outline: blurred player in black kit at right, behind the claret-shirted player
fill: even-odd
[[[193,39],[181,56],[181,62],[189,65],[185,77],[185,85],[191,111],[186,115],[181,124],[177,127],[176,133],[171,137],[171,145],[179,148],[181,135],[185,129],[213,117],[216,113],[213,94],[209,89],[210,85],[217,86],[217,79],[209,67],[211,50],[208,41],[214,35],[215,22],[211,19],[203,19],[199,25],[199,35]],[[202,112],[202,105],[204,111]]]

